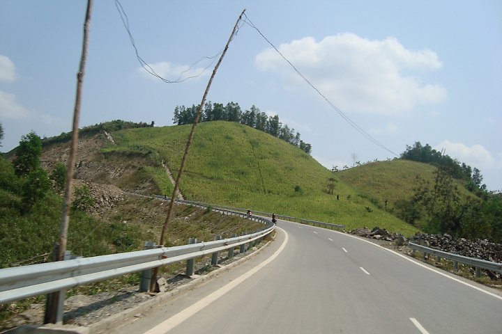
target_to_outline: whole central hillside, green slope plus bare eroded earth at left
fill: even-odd
[[[170,196],[166,168],[176,177],[189,132],[190,125],[181,125],[83,138],[75,177]],[[63,143],[45,148],[45,166],[62,161],[67,147]],[[328,193],[331,177],[333,194]],[[379,225],[406,235],[417,231],[294,145],[234,122],[198,125],[181,193],[190,200],[341,223],[347,229]]]

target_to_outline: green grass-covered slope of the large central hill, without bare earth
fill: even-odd
[[[188,125],[114,132],[116,145],[102,152],[153,152],[176,177],[189,133]],[[337,175],[294,145],[234,122],[204,122],[197,126],[181,191],[190,200],[342,223],[349,229],[379,225],[416,232],[346,182],[335,182],[333,195],[328,194],[330,177]],[[160,175],[153,178],[170,196],[172,186]]]

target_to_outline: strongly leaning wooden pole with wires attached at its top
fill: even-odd
[[[181,182],[181,175],[183,174],[183,170],[185,169],[185,163],[188,158],[188,152],[190,151],[190,145],[192,145],[193,141],[193,136],[195,134],[195,127],[197,127],[197,123],[199,122],[199,118],[201,116],[202,108],[204,108],[204,102],[206,102],[206,97],[209,93],[209,88],[211,87],[211,83],[213,82],[213,79],[215,77],[216,72],[218,71],[218,67],[220,67],[220,64],[223,60],[223,57],[225,57],[225,54],[227,53],[227,50],[229,48],[231,40],[234,38],[234,35],[237,31],[238,23],[241,22],[241,19],[244,15],[245,9],[242,11],[241,15],[239,15],[237,22],[234,26],[234,30],[232,30],[229,40],[227,41],[227,45],[225,45],[225,49],[223,49],[222,55],[220,56],[220,59],[218,60],[218,63],[216,63],[215,68],[213,70],[213,74],[211,74],[211,78],[209,78],[209,82],[206,86],[206,90],[204,91],[204,95],[202,96],[202,101],[199,104],[199,110],[197,110],[197,115],[195,116],[195,120],[192,125],[192,131],[190,131],[190,136],[188,136],[188,141],[185,147],[185,153],[183,154],[183,159],[181,160],[181,166],[178,170],[178,176],[176,177],[176,182],[174,184],[174,190],[171,196],[171,202],[169,202],[169,209],[167,209],[167,216],[164,222],[164,225],[162,225],[162,232],[160,234],[160,241],[159,245],[163,246],[165,243],[165,232],[167,230],[167,226],[169,225],[169,221],[171,221],[172,213],[174,210],[174,202],[176,201],[176,197],[178,196],[178,189],[179,189],[179,184]],[[155,289],[155,283],[157,281],[157,273],[158,273],[158,268],[154,268],[152,271],[152,278],[150,281],[150,291],[153,291]]]

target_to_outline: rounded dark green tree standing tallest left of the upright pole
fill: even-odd
[[[15,150],[13,160],[16,175],[28,175],[31,170],[40,166],[40,156],[42,155],[42,141],[35,132],[30,132],[21,137],[20,145]]]

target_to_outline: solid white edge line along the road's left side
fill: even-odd
[[[282,228],[278,228],[279,230],[282,230]],[[282,230],[284,232],[285,237],[284,241],[282,241],[281,246],[279,249],[273,253],[271,257],[268,257],[267,260],[264,262],[261,262],[261,264],[258,264],[256,267],[252,268],[250,271],[243,273],[241,276],[236,278],[235,280],[231,280],[230,283],[227,285],[224,285],[220,287],[220,289],[216,290],[215,292],[208,294],[205,296],[203,299],[197,301],[197,303],[190,305],[188,308],[185,308],[185,310],[182,310],[181,312],[176,313],[176,315],[173,315],[169,319],[163,321],[162,323],[158,324],[157,326],[151,328],[151,330],[145,332],[145,334],[165,334],[169,331],[172,330],[172,328],[178,326],[181,324],[183,321],[186,319],[192,317],[192,315],[195,315],[197,312],[200,310],[206,308],[209,304],[213,303],[213,301],[217,300],[227,292],[229,292],[231,289],[234,289],[237,285],[241,284],[246,280],[247,278],[250,278],[254,273],[257,273],[261,268],[265,267],[267,264],[272,262],[275,257],[277,257],[282,250],[284,250],[284,247],[286,247],[286,244],[288,242],[289,236],[286,231]]]

